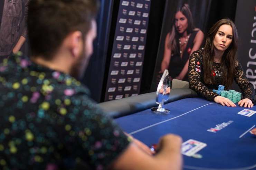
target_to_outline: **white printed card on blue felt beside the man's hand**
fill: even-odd
[[[206,147],[207,144],[199,142],[197,140],[189,139],[186,142],[183,142],[181,145],[181,153],[186,156],[195,155],[199,150]]]

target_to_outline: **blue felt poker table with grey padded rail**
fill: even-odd
[[[157,106],[154,96],[155,93],[149,93],[99,106],[124,131],[148,146],[169,133],[181,136],[183,142],[193,139],[207,144],[197,152],[201,159],[183,155],[183,169],[256,169],[256,136],[249,133],[256,125],[256,114],[240,115],[238,112],[244,107],[222,106],[199,98],[190,89],[172,89],[164,105],[170,114],[157,114],[150,109]]]

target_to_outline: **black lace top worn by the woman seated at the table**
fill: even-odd
[[[236,61],[235,63],[235,82],[240,87],[243,97],[249,98],[254,103],[254,95],[255,91],[253,85],[249,82],[246,77],[241,64]],[[213,100],[217,93],[213,92],[212,89],[218,89],[218,85],[221,85],[222,82],[222,74],[223,71],[221,69],[220,63],[214,63],[214,67],[212,68],[213,76],[215,79],[214,84],[205,84],[203,81],[203,51],[202,49],[193,52],[189,59],[189,69],[188,69],[188,77],[189,77],[189,88],[195,90],[200,96],[205,97],[208,100]],[[225,87],[226,89],[226,87]]]

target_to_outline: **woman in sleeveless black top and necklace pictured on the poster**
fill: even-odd
[[[189,56],[202,42],[203,32],[195,28],[189,6],[183,4],[177,9],[171,31],[166,35],[160,73],[168,69],[172,78],[188,81]]]

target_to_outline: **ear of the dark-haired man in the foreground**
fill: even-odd
[[[82,32],[75,31],[69,35],[69,47],[73,57],[79,57],[83,50]]]

